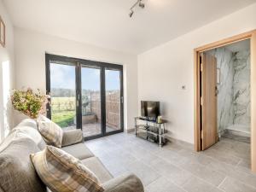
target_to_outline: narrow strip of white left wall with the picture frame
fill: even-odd
[[[9,91],[14,87],[14,28],[0,0],[0,15],[6,26],[6,46],[0,45],[0,141],[13,126]]]

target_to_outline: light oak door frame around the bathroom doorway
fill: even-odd
[[[251,164],[252,171],[256,172],[256,30],[194,49],[194,143],[195,151],[201,151],[200,54],[209,49],[216,49],[246,39],[251,41]]]

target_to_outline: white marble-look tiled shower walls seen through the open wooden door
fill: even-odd
[[[207,51],[217,58],[218,135],[250,137],[250,42]]]

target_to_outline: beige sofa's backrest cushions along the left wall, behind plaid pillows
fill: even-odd
[[[17,125],[0,144],[0,191],[45,192],[30,160],[44,147],[36,122],[26,119]]]

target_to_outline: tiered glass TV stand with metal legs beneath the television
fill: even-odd
[[[162,120],[162,123],[158,123],[154,120],[141,117],[135,118],[136,137],[142,137],[148,141],[158,143],[161,147],[166,143],[166,133],[166,120]]]

